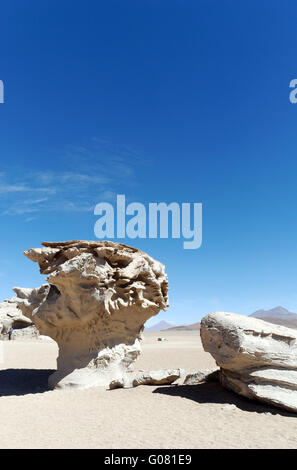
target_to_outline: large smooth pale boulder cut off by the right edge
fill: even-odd
[[[297,412],[297,331],[234,313],[201,321],[201,340],[220,366],[221,384]]]

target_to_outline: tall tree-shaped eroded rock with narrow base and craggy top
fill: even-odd
[[[144,323],[169,305],[165,268],[120,243],[42,245],[24,254],[49,275],[49,284],[14,291],[23,314],[59,345],[49,385],[108,386],[140,354]]]

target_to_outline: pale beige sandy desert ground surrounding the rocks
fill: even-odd
[[[55,343],[0,342],[0,448],[297,448],[297,414],[217,383],[46,391],[56,356]],[[136,369],[214,365],[198,332],[146,333]]]

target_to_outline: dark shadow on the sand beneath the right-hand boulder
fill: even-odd
[[[254,413],[271,413],[273,415],[290,416],[291,418],[297,417],[293,412],[281,410],[268,404],[266,405],[265,403],[241,397],[236,393],[226,390],[217,382],[198,385],[162,386],[156,388],[153,393],[186,398],[201,404],[218,403],[221,405],[235,405],[243,411]]]

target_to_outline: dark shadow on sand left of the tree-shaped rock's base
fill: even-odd
[[[53,372],[52,369],[0,370],[0,397],[47,392],[47,381]]]

